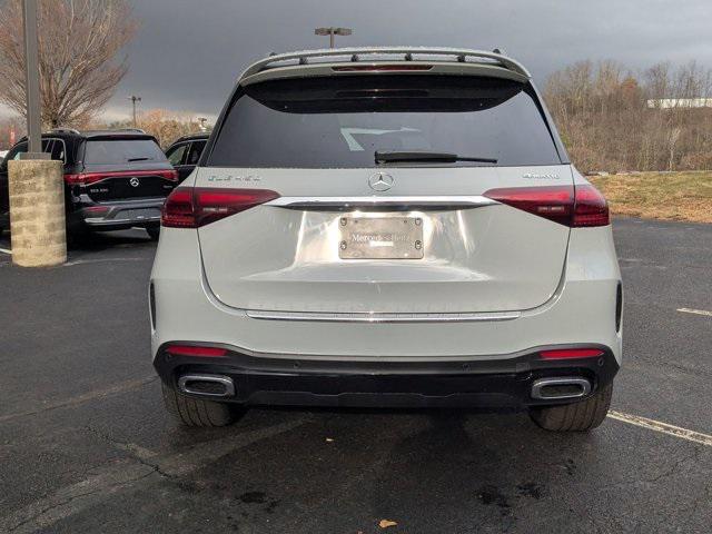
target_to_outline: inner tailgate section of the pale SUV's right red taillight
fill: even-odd
[[[572,186],[506,187],[490,189],[484,196],[566,226],[574,207]]]

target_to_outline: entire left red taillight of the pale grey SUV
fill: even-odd
[[[179,187],[166,199],[161,225],[198,228],[278,197],[268,189]]]

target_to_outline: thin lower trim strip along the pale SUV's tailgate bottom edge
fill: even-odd
[[[476,320],[512,320],[520,312],[484,312],[463,314],[364,314],[328,312],[263,312],[246,309],[253,319],[269,320],[314,320],[332,323],[463,323]]]

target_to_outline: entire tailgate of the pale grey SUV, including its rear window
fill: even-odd
[[[261,81],[218,127],[189,201],[230,307],[436,317],[534,308],[561,283],[573,178],[528,82]]]

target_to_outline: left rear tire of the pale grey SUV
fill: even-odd
[[[184,426],[218,427],[235,423],[244,413],[237,406],[187,397],[161,383],[168,413]]]

